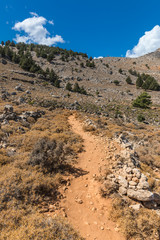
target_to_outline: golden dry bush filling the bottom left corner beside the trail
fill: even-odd
[[[35,213],[28,215],[23,210],[1,214],[0,239],[83,240],[63,219],[42,217]]]

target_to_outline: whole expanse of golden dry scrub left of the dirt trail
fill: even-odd
[[[31,109],[26,106],[25,110]],[[15,111],[21,113],[21,107],[16,106]],[[70,174],[68,169],[82,150],[81,139],[71,132],[67,122],[69,115],[65,110],[46,111],[37,122],[30,119],[28,127],[10,121],[0,129],[1,141],[7,144],[0,149],[0,239],[82,239],[63,220],[45,219],[37,213],[41,204],[59,200],[62,179]],[[19,131],[19,127],[24,131]],[[8,154],[12,150],[13,154]],[[43,164],[28,164],[35,157]],[[65,164],[67,170],[59,171]]]

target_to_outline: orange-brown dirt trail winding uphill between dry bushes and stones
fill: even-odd
[[[61,205],[65,208],[69,222],[85,239],[123,240],[116,224],[109,220],[110,200],[100,196],[100,183],[95,180],[95,176],[99,175],[99,167],[107,163],[107,143],[84,132],[75,116],[69,117],[69,123],[73,132],[84,140],[85,151],[79,154],[76,167],[83,169],[85,174],[72,180]]]

